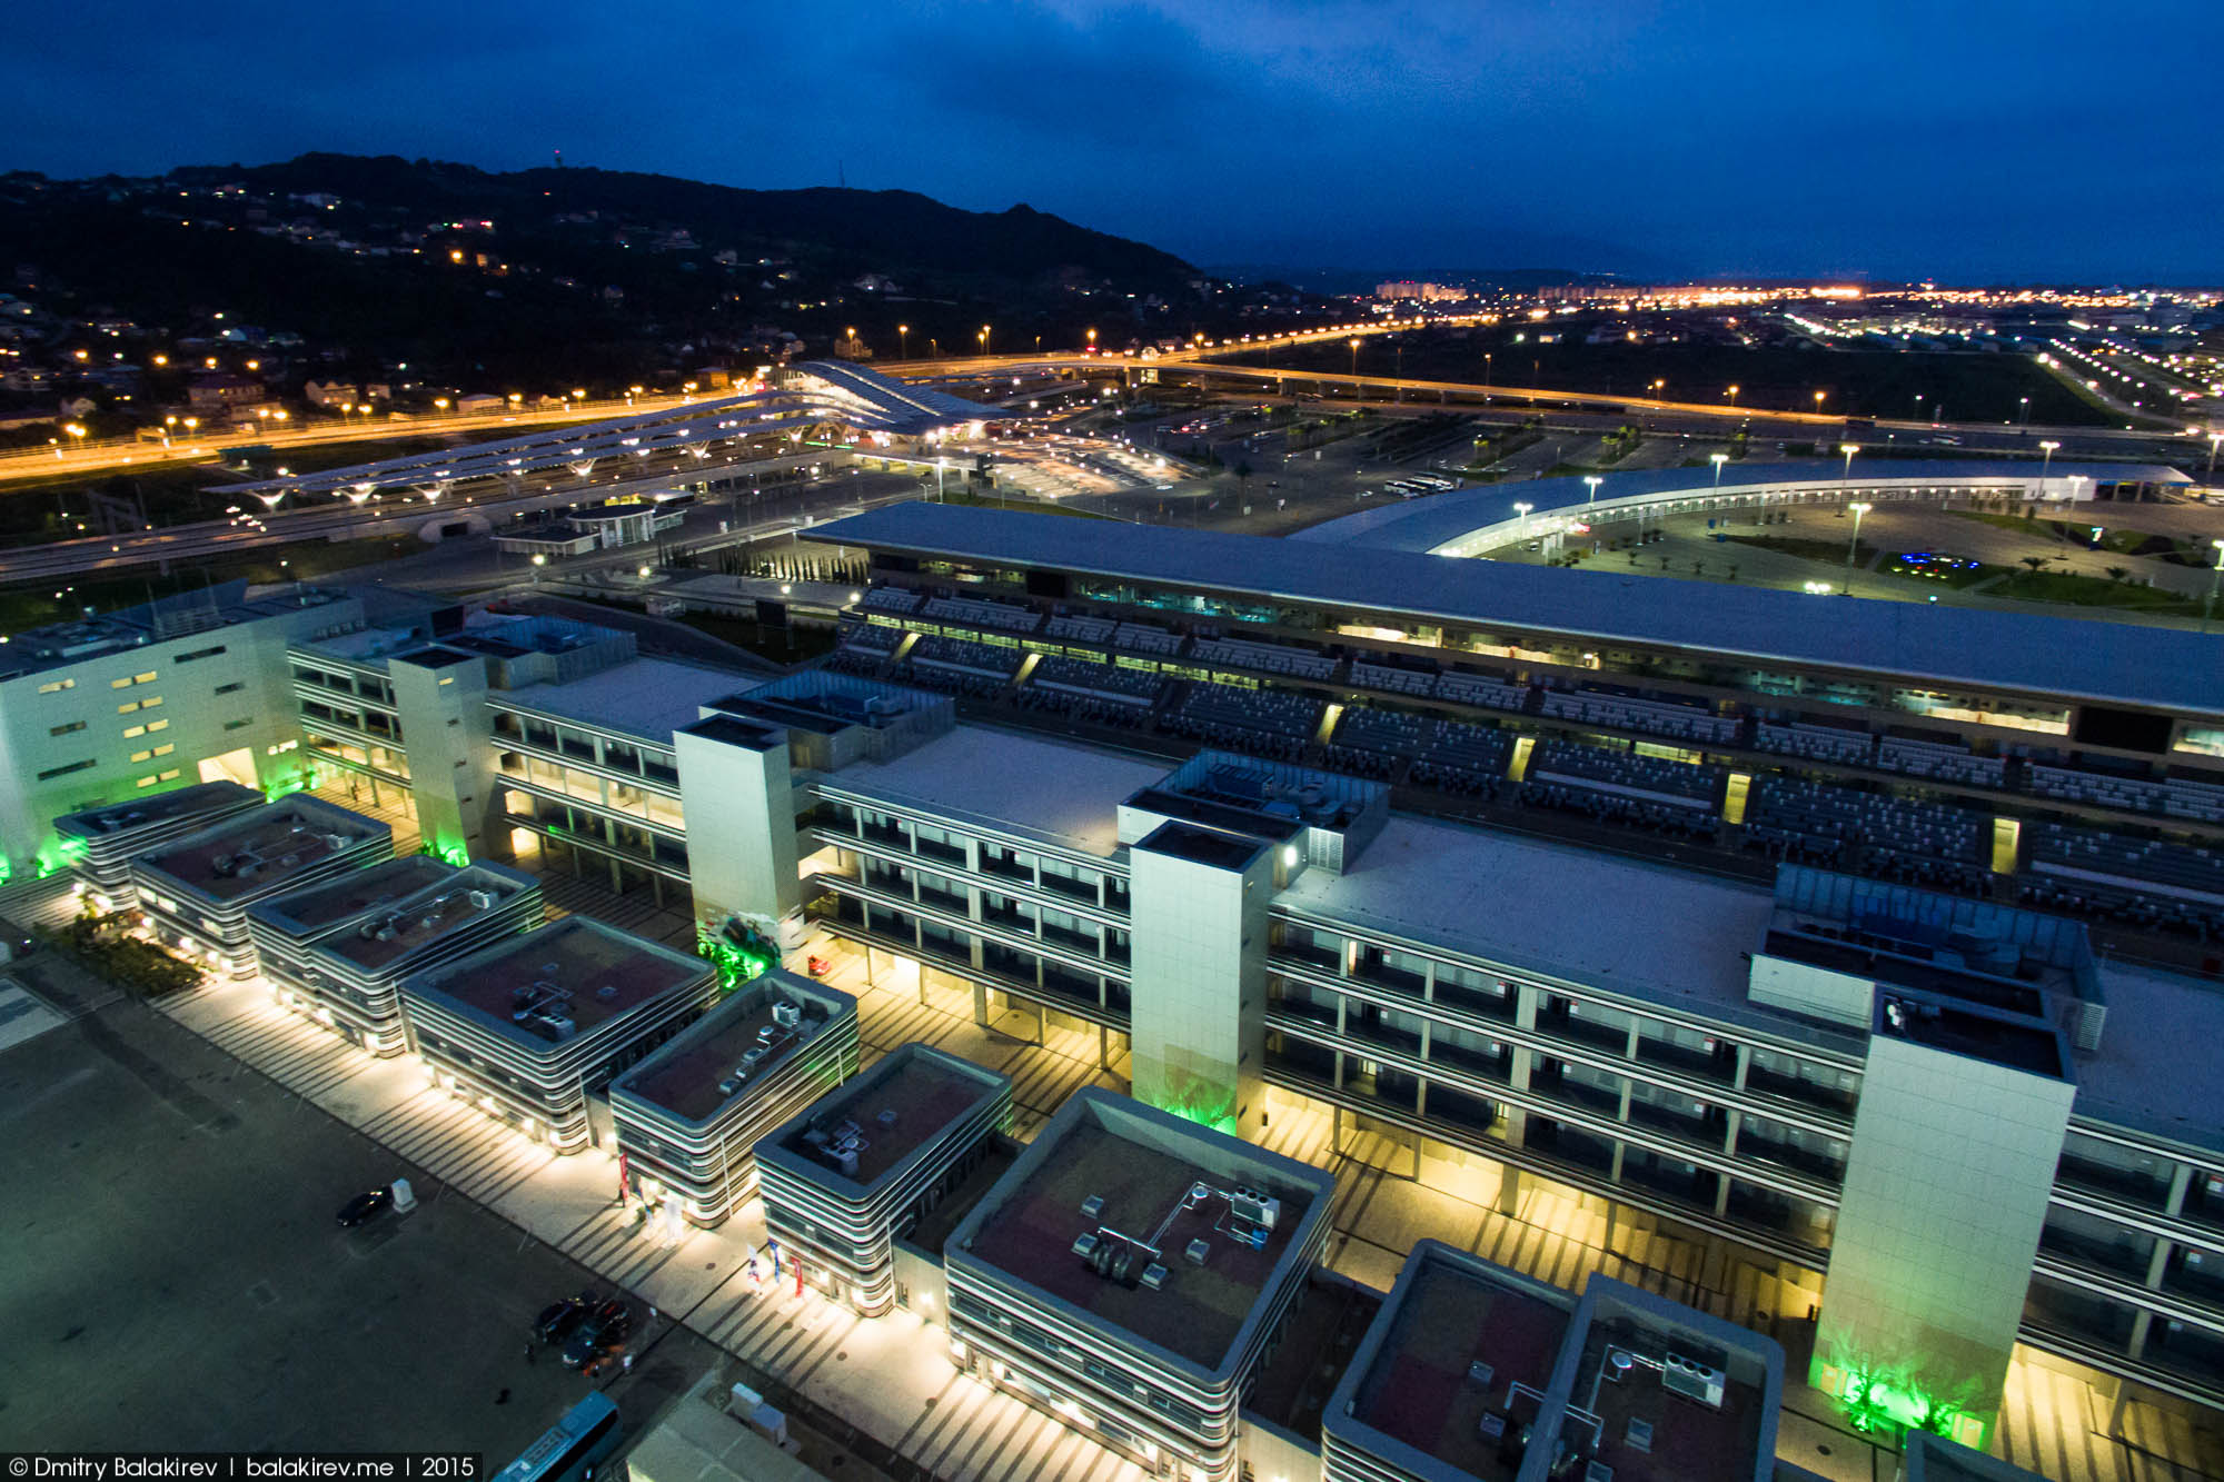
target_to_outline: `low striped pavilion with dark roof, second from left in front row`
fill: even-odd
[[[158,941],[231,977],[254,977],[247,912],[258,901],[391,857],[387,823],[298,794],[140,854],[131,861],[131,886]]]

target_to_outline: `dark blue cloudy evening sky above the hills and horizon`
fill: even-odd
[[[20,7],[0,169],[1025,200],[1197,263],[2224,280],[2220,0]]]

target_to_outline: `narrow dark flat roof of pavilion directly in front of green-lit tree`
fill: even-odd
[[[801,1024],[776,1024],[772,1010],[781,1004],[794,1004]],[[701,1024],[641,1061],[618,1090],[701,1126],[736,1097],[747,1099],[749,1090],[763,1088],[841,1015],[856,1015],[856,999],[847,992],[774,968],[729,992]],[[756,1059],[743,1068],[752,1053]]]

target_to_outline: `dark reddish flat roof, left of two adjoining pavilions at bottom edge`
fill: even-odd
[[[1350,1417],[1470,1478],[1510,1482],[1519,1453],[1481,1431],[1510,1384],[1543,1391],[1575,1295],[1426,1242],[1390,1297],[1390,1326],[1354,1377]],[[1515,1420],[1537,1417],[1535,1402]],[[1519,1429],[1512,1424],[1510,1429]]]

